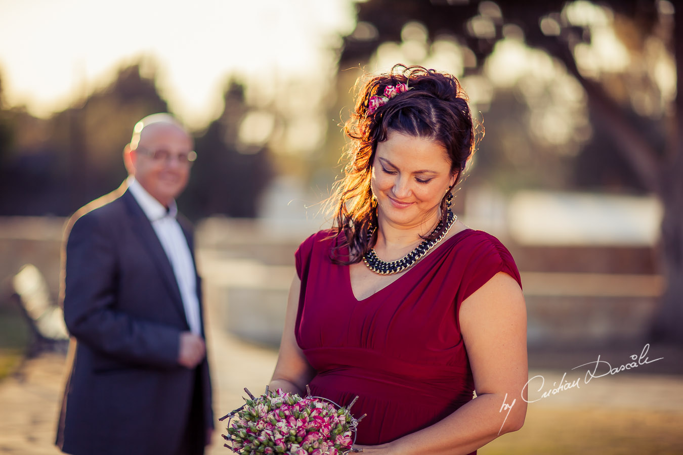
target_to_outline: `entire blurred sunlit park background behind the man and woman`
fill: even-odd
[[[531,405],[481,453],[682,453],[680,6],[523,3],[0,0],[0,378],[14,374],[0,407],[15,409],[0,453],[55,453],[42,407],[63,359],[18,366],[27,327],[36,308],[54,319],[65,217],[123,181],[138,119],[169,111],[195,136],[179,205],[197,226],[217,406],[234,409],[273,368],[296,246],[329,222],[354,84],[395,63],[450,72],[469,95],[479,147],[455,207],[515,256],[531,370],[620,364],[645,343],[665,356]],[[50,398],[17,371],[33,387],[52,371]]]

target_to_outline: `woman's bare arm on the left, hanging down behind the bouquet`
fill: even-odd
[[[295,275],[287,299],[285,328],[282,333],[280,352],[277,356],[273,379],[270,380],[270,390],[282,389],[284,392],[294,392],[304,396],[305,387],[316,375],[316,370],[313,370],[309,365],[294,336],[300,291],[301,280]]]

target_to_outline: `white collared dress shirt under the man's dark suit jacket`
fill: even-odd
[[[142,188],[140,182],[134,177],[128,177],[128,190],[130,190],[130,194],[133,194],[135,201],[152,223],[156,237],[161,241],[161,246],[163,246],[166,256],[171,262],[190,331],[193,334],[201,335],[195,265],[192,261],[187,239],[182,232],[180,223],[176,220],[178,214],[176,201],[171,201],[169,208],[166,209],[145,188]]]

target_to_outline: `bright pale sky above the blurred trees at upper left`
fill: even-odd
[[[11,106],[46,117],[143,58],[171,111],[194,128],[221,113],[230,76],[266,89],[266,99],[293,79],[320,89],[354,27],[352,3],[342,0],[2,0],[0,8]]]

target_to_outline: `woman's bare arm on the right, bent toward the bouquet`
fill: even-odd
[[[522,290],[514,278],[500,272],[462,302],[459,317],[477,398],[428,428],[391,443],[360,446],[364,452],[469,454],[522,427],[527,413],[522,392],[529,375]]]

